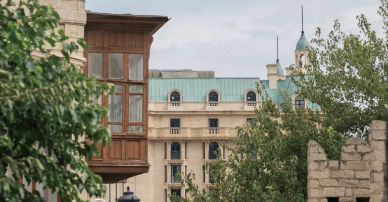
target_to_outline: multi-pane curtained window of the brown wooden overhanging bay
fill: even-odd
[[[143,55],[112,50],[90,51],[87,54],[86,72],[88,77],[115,84],[114,94],[95,100],[108,108],[108,128],[112,132],[142,132]]]

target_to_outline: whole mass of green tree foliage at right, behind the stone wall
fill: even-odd
[[[359,35],[345,33],[340,23],[328,37],[312,40],[311,65],[293,76],[299,94],[321,106],[321,111],[293,109],[289,95],[282,111],[263,87],[256,123],[238,127],[238,137],[227,160],[218,158],[204,169],[218,191],[201,191],[194,175],[182,178],[190,197],[180,201],[306,201],[307,144],[317,141],[329,159],[338,159],[350,134],[367,137],[371,120],[383,120],[388,106],[388,1],[378,13],[383,38],[378,38],[364,15],[357,16]],[[298,77],[298,78],[297,78]]]

